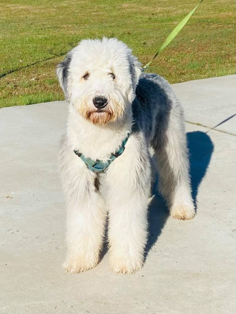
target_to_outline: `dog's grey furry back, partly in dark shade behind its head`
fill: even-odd
[[[171,115],[183,120],[183,109],[171,85],[160,75],[142,73],[132,103],[133,132],[142,129],[154,148],[161,141]]]

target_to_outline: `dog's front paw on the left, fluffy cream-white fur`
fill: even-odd
[[[63,268],[67,273],[82,273],[86,270],[95,268],[98,265],[98,260],[86,261],[81,257],[67,258],[63,263]]]

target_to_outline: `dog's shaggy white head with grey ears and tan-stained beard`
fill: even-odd
[[[84,118],[100,125],[123,118],[140,74],[136,57],[115,38],[81,41],[57,68],[66,99]]]

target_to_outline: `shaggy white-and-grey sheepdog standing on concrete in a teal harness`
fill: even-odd
[[[164,78],[141,72],[132,51],[115,38],[83,40],[58,65],[69,104],[59,150],[67,272],[98,264],[107,216],[111,268],[142,268],[154,163],[170,215],[195,215],[183,109]]]

